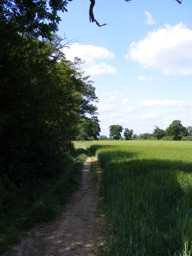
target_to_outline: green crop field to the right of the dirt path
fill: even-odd
[[[94,141],[111,241],[105,255],[192,255],[192,143]]]

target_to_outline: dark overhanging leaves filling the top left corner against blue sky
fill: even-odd
[[[58,11],[67,12],[66,0],[4,0],[0,1],[0,27],[4,39],[10,31],[30,36],[51,37],[58,30]]]

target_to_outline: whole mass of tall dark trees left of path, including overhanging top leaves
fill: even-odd
[[[72,140],[88,127],[99,135],[95,87],[79,66],[66,60],[64,39],[54,32],[67,1],[0,3],[0,182],[52,176],[74,152]],[[46,22],[44,22],[46,20]],[[0,190],[1,191],[1,190]]]

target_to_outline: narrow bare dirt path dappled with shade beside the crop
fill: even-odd
[[[92,184],[90,157],[82,168],[82,186],[75,191],[60,216],[28,234],[8,256],[93,256],[91,236],[97,230],[94,212],[97,196]]]

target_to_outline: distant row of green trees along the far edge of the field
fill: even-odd
[[[124,138],[121,136],[123,127],[121,125],[109,126],[110,138],[101,135],[99,140],[192,140],[192,126],[185,127],[180,120],[174,120],[166,130],[154,126],[153,133],[133,134],[132,129],[124,128]]]

